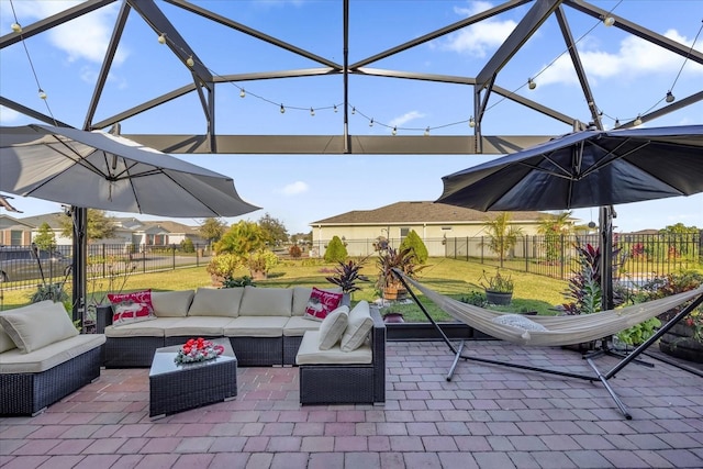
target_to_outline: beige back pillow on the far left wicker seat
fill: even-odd
[[[64,304],[51,300],[3,311],[0,325],[24,354],[78,335]]]

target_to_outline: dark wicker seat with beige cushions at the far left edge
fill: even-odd
[[[0,312],[0,415],[34,415],[100,376],[102,334],[49,300]]]

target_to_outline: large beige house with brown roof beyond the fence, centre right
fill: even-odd
[[[425,242],[431,256],[444,256],[444,239],[486,236],[486,222],[499,213],[431,201],[397,202],[375,210],[355,210],[311,223],[313,252],[323,255],[327,243],[336,235],[347,243],[350,256],[362,256],[373,250],[372,244],[379,238],[387,238],[397,247],[414,230]],[[512,224],[522,228],[523,234],[536,235],[539,221],[546,213],[511,212],[511,215]]]

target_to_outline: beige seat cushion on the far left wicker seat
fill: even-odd
[[[105,343],[102,334],[80,334],[55,342],[30,354],[13,348],[2,354],[0,373],[38,373],[54,368]]]

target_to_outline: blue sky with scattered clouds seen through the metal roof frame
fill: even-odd
[[[301,48],[343,62],[341,1],[194,1],[253,29]],[[616,15],[636,22],[671,40],[692,45],[703,24],[703,7],[694,0],[593,1]],[[31,24],[65,10],[75,2],[15,0],[20,24]],[[157,1],[179,27],[213,74],[247,74],[317,67],[306,58],[256,42]],[[398,44],[427,34],[467,15],[499,4],[483,1],[352,0],[349,62],[354,63]],[[120,2],[100,9],[48,34],[25,41],[46,103],[55,119],[81,127],[92,97],[96,77]],[[521,7],[434,40],[414,49],[370,65],[438,75],[476,76],[520,21]],[[644,43],[627,33],[606,27],[593,18],[565,8],[606,127],[659,109],[671,90],[677,98],[701,91],[703,66]],[[14,22],[9,0],[0,0],[0,31]],[[694,47],[703,51],[703,37]],[[0,52],[0,93],[31,108],[37,105],[37,82],[21,44]],[[527,78],[534,77],[535,90]],[[261,80],[219,86],[216,129],[222,134],[341,134],[342,77]],[[110,71],[94,121],[160,96],[191,81],[182,63],[159,45],[155,33],[136,15],[127,22],[123,42]],[[545,23],[498,76],[496,85],[588,122],[589,112],[554,19]],[[239,98],[245,88],[246,98]],[[349,102],[358,112],[349,116],[353,135],[469,135],[472,88],[456,85],[400,81],[378,77],[350,77]],[[257,98],[257,96],[259,98]],[[280,103],[288,111],[279,112]],[[298,109],[297,109],[298,108]],[[310,115],[314,108],[315,115]],[[44,112],[45,108],[40,108]],[[375,125],[369,126],[373,119]],[[33,122],[0,108],[2,125]],[[454,125],[453,125],[454,124]],[[699,102],[649,126],[703,124]],[[536,114],[493,96],[483,121],[484,135],[559,135],[570,126]],[[122,122],[122,133],[205,132],[203,113],[194,94],[182,97]],[[289,232],[308,232],[309,224],[352,210],[370,210],[397,201],[435,200],[443,176],[495,156],[384,156],[384,155],[178,155],[179,158],[231,176],[239,194],[263,210],[244,216],[258,220],[265,213],[281,220]],[[15,198],[13,204],[35,215],[58,211],[59,205]],[[703,194],[689,198],[624,204],[615,208],[617,231],[661,228],[674,223],[703,227]],[[124,214],[113,213],[121,216]],[[11,214],[13,215],[13,214]],[[598,209],[574,215],[598,222]],[[155,219],[138,215],[142,219]],[[227,219],[232,223],[238,219]],[[197,224],[200,220],[181,220]]]

